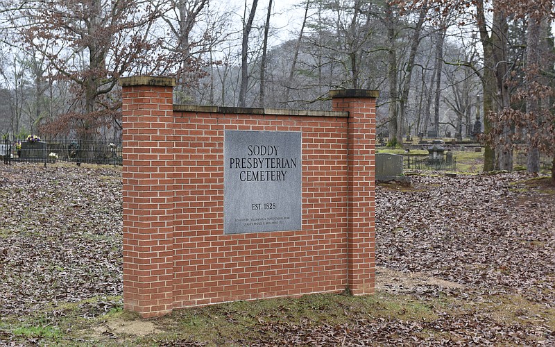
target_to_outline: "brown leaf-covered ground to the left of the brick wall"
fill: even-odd
[[[121,295],[121,171],[15,164],[0,194],[0,316]]]

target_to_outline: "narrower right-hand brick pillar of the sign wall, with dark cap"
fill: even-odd
[[[332,90],[332,110],[349,112],[348,285],[372,294],[375,285],[376,90]]]

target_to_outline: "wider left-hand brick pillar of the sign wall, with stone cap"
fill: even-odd
[[[173,305],[173,78],[121,78],[123,307],[144,318]]]

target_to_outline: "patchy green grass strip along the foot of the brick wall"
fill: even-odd
[[[466,316],[479,312],[486,321],[499,325],[524,325],[529,329],[547,325],[555,330],[555,309],[532,303],[517,294],[445,296],[419,298],[409,294],[377,291],[370,296],[311,294],[298,298],[271,298],[237,301],[206,307],[174,310],[158,319],[140,319],[132,312],[113,307],[94,318],[86,316],[87,307],[105,301],[95,298],[80,303],[60,304],[43,312],[11,318],[0,323],[0,332],[9,331],[19,343],[40,339],[52,346],[157,346],[179,341],[197,341],[206,346],[234,346],[253,343],[261,338],[275,338],[269,327],[284,325],[318,327],[350,325],[359,321],[434,322],[445,312]],[[110,298],[119,301],[119,298]],[[53,314],[54,313],[54,314]],[[51,317],[45,319],[44,317]],[[54,318],[52,318],[54,317]],[[134,332],[133,328],[114,332],[109,327],[132,327],[144,323],[155,330]],[[99,330],[99,327],[108,327]],[[278,330],[279,331],[279,330]],[[441,339],[442,330],[428,330],[427,337]]]

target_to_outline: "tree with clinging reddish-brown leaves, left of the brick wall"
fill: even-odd
[[[11,11],[14,39],[49,63],[51,80],[67,81],[67,111],[44,126],[50,135],[89,139],[101,126],[117,125],[115,86],[135,71],[152,74],[167,61],[150,34],[161,6],[142,0],[22,0]]]

